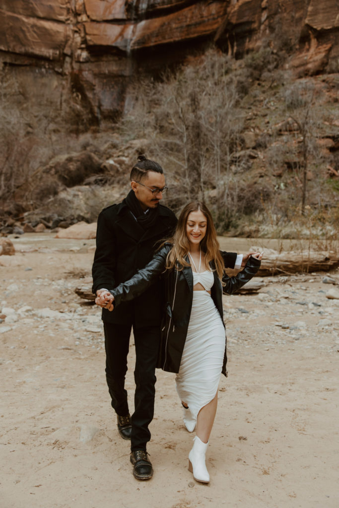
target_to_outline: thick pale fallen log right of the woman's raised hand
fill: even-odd
[[[251,250],[260,251],[260,247],[251,247]],[[277,275],[292,273],[309,273],[317,271],[330,271],[339,266],[339,253],[334,250],[302,250],[278,252],[273,249],[264,249],[261,267],[258,275]]]

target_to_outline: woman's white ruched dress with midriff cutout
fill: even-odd
[[[193,282],[200,282],[205,291],[193,291],[191,319],[175,378],[180,400],[189,406],[188,420],[196,420],[217,393],[226,346],[221,316],[207,292],[214,282],[212,271],[193,272]]]

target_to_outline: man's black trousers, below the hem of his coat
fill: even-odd
[[[132,325],[104,322],[106,380],[112,407],[119,416],[129,412],[125,376]],[[135,395],[132,415],[131,450],[146,450],[150,439],[148,425],[153,419],[156,393],[156,364],[160,344],[160,326],[133,327],[135,343]]]

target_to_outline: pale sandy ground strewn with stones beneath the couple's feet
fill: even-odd
[[[207,454],[210,485],[187,469],[193,435],[174,376],[157,371],[155,474],[138,482],[109,403],[100,310],[74,294],[94,241],[13,242],[16,255],[0,258],[2,508],[339,506],[339,306],[326,298],[326,274],[265,278],[258,295],[225,297],[229,377]],[[132,339],[131,409],[133,368]]]

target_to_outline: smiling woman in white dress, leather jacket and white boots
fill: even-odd
[[[226,252],[219,250],[208,208],[201,202],[183,208],[173,238],[130,280],[110,293],[114,305],[132,300],[158,277],[164,277],[166,309],[161,327],[159,367],[176,372],[184,423],[194,445],[189,470],[208,483],[205,453],[217,410],[220,375],[226,372],[222,293],[232,294],[258,271],[262,255],[254,253],[235,277],[224,272]],[[111,302],[108,308],[112,309]]]

